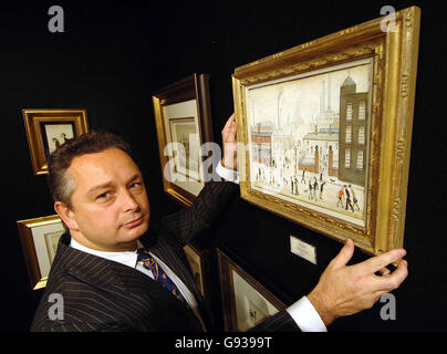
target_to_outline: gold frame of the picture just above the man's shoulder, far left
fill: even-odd
[[[23,249],[23,257],[27,263],[28,277],[30,279],[32,290],[45,288],[48,280],[48,274],[42,274],[41,268],[39,266],[32,230],[37,227],[53,225],[58,222],[62,222],[59,215],[17,221],[20,241]]]

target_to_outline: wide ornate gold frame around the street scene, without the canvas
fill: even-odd
[[[343,241],[367,253],[403,247],[409,152],[413,128],[420,9],[395,13],[394,31],[375,19],[237,67],[232,75],[238,121],[241,197],[279,216]],[[300,73],[373,59],[365,227],[346,222],[250,188],[246,87]]]

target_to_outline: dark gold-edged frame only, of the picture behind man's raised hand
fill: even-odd
[[[164,190],[174,200],[185,206],[190,206],[196,199],[196,196],[185,188],[169,181],[164,175],[165,166],[169,162],[169,157],[164,155],[165,146],[168,143],[167,132],[164,124],[164,107],[175,103],[196,100],[200,146],[204,143],[212,142],[212,121],[208,80],[209,77],[207,74],[195,73],[153,94]],[[204,160],[204,158],[205,157],[200,157],[201,160]]]

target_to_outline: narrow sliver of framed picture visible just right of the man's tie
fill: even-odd
[[[184,247],[186,258],[188,259],[194,280],[201,295],[206,301],[210,301],[209,274],[210,274],[210,253],[209,250],[201,247],[198,242],[191,241]]]

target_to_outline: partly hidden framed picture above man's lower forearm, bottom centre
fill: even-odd
[[[226,332],[246,332],[287,306],[217,249]]]

